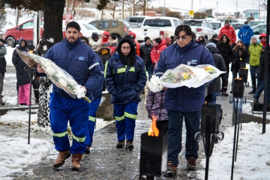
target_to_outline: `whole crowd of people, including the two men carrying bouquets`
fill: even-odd
[[[163,88],[160,92],[150,90],[144,92],[148,94],[145,108],[149,118],[157,118],[160,135],[168,134],[168,170],[177,172],[178,156],[182,149],[183,121],[187,131],[185,143],[187,169],[195,170],[198,142],[194,136],[200,129],[202,104],[205,101],[208,104],[215,104],[217,96],[229,96],[226,91],[230,66],[234,80],[239,77],[240,69],[249,63],[252,80],[252,91],[249,94],[254,94],[255,103],[258,103],[264,89],[264,58],[268,55],[265,52],[266,34],[261,34],[257,39],[248,22],[245,22],[238,37],[240,40],[236,42],[234,29],[228,21],[225,21],[220,33],[214,34],[208,42],[202,36],[196,39],[196,34],[188,25],[180,25],[176,28],[174,36],[164,39],[160,37],[150,39],[145,36],[145,43],[140,45],[136,41],[136,34],[132,32],[120,40],[107,31],[101,37],[97,33],[92,33],[91,37],[87,38],[80,35],[78,23],[74,21],[68,23],[65,39],[51,47],[44,57],[51,59],[71,74],[81,85],[85,96],[92,102],[72,98],[53,84],[49,102],[50,123],[55,149],[59,151],[54,167],[62,166],[65,160],[72,156],[72,170],[81,168],[82,154],[90,153],[96,111],[101,103],[102,91],[107,89],[111,94],[110,102],[113,104],[113,117],[117,129],[116,147],[133,149],[137,108],[146,82],[153,75],[161,77],[166,70],[181,64],[192,66],[209,64],[227,73],[197,88],[182,86]],[[4,40],[0,39],[0,95],[6,72],[4,43]],[[36,53],[35,47],[27,44],[24,39],[19,40],[18,49]],[[18,104],[29,105],[32,103],[29,100],[30,71],[16,50],[12,62],[16,67]],[[38,78],[44,76],[46,74],[42,66],[37,64],[34,73],[36,79],[36,83],[33,83],[34,92],[38,90]],[[232,84],[230,93],[233,93],[233,87]],[[38,102],[38,91],[35,97]],[[270,98],[267,100],[270,102]],[[5,105],[2,96],[0,105]],[[72,145],[67,134],[68,123],[72,128]]]

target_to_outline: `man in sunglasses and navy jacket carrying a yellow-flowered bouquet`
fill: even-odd
[[[210,51],[192,38],[192,31],[188,25],[180,25],[175,30],[176,43],[167,47],[161,53],[156,76],[162,76],[168,69],[174,69],[180,64],[184,65],[214,65]],[[194,139],[196,132],[200,131],[201,108],[204,104],[205,85],[198,88],[186,86],[178,88],[163,88],[165,90],[164,108],[168,112],[168,170],[174,175],[179,164],[178,155],[182,149],[182,125],[185,119],[186,143],[185,158],[187,169],[195,170],[198,159],[198,142]]]

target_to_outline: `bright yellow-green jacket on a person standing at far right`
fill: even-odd
[[[260,65],[260,57],[261,51],[263,50],[262,43],[259,44],[251,44],[249,46],[249,54],[250,54],[250,62],[249,64],[252,66],[259,66]]]

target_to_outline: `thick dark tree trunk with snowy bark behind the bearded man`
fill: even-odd
[[[65,0],[46,0],[44,7],[44,32],[42,34],[42,41],[39,46],[39,55],[44,54],[55,43],[60,42],[63,39],[62,32],[62,19],[65,7]],[[50,80],[46,78],[39,79],[39,105],[37,114],[37,124],[40,127],[50,126],[49,120],[49,87],[51,85]]]

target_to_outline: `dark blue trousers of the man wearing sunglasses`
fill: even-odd
[[[182,149],[182,128],[183,118],[186,126],[185,158],[194,157],[198,159],[198,142],[194,135],[200,131],[201,111],[182,112],[168,110],[169,131],[168,131],[168,161],[178,165],[178,155]]]

